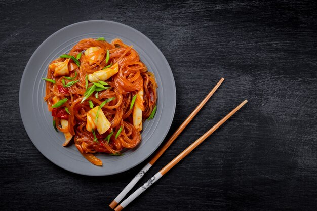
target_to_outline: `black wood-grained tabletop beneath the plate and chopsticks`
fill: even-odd
[[[317,210],[316,6],[1,1],[0,209],[109,210],[144,165],[108,177],[69,173],[37,151],[21,121],[19,84],[35,49],[64,26],[103,19],[141,31],[167,58],[177,89],[169,135],[226,79],[142,183],[249,100],[127,210]]]

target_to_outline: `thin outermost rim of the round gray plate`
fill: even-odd
[[[32,141],[32,139],[30,138],[30,131],[27,130],[26,128],[26,119],[23,118],[23,113],[22,113],[22,95],[21,95],[21,91],[22,91],[22,88],[23,88],[23,84],[24,84],[24,78],[26,77],[26,70],[29,68],[29,66],[31,65],[31,60],[33,59],[33,57],[35,57],[36,53],[41,49],[41,47],[43,45],[45,45],[51,37],[54,37],[56,34],[58,34],[59,32],[63,31],[63,30],[66,30],[68,28],[71,28],[73,26],[76,26],[76,25],[80,25],[80,24],[84,24],[84,23],[89,23],[89,22],[103,22],[103,23],[109,23],[109,24],[116,24],[116,25],[120,25],[122,27],[126,27],[126,28],[129,28],[130,30],[133,30],[134,32],[138,33],[140,36],[142,36],[142,38],[146,39],[147,41],[149,41],[149,43],[151,44],[151,46],[157,50],[157,52],[159,52],[160,55],[162,55],[163,59],[165,60],[165,63],[168,67],[168,72],[170,73],[170,76],[172,78],[172,87],[173,87],[173,96],[174,96],[174,99],[173,99],[173,109],[172,109],[172,118],[170,119],[170,121],[168,122],[168,127],[167,127],[167,130],[164,132],[164,135],[162,136],[162,141],[160,141],[160,143],[157,145],[157,147],[154,147],[152,148],[152,150],[150,151],[150,153],[148,153],[148,155],[144,156],[144,158],[142,159],[139,159],[137,162],[135,162],[134,164],[126,167],[126,168],[123,168],[121,170],[118,170],[118,171],[114,171],[112,173],[100,173],[100,174],[90,174],[90,173],[83,173],[83,172],[80,172],[80,171],[74,171],[74,170],[70,170],[68,168],[66,168],[65,166],[63,165],[60,165],[58,162],[55,162],[53,159],[51,159],[50,157],[48,157],[41,149],[39,149],[38,146],[36,146],[36,144],[34,144],[34,142]],[[175,110],[176,110],[176,99],[177,99],[177,93],[176,93],[176,85],[175,85],[175,79],[174,79],[174,75],[173,75],[173,72],[172,72],[172,69],[166,59],[166,57],[164,56],[164,54],[161,52],[161,50],[153,43],[153,41],[148,38],[146,35],[144,35],[142,32],[140,32],[139,30],[131,27],[131,26],[128,26],[126,24],[123,24],[123,23],[119,23],[119,22],[115,22],[115,21],[108,21],[108,20],[87,20],[87,21],[81,21],[81,22],[76,22],[76,23],[73,23],[73,24],[70,24],[70,25],[67,25],[57,31],[55,31],[53,34],[51,34],[50,36],[48,36],[37,48],[36,50],[33,52],[33,54],[31,55],[31,57],[29,58],[24,70],[23,70],[23,74],[22,74],[22,77],[21,77],[21,81],[20,81],[20,88],[19,88],[19,111],[20,111],[20,115],[21,115],[21,119],[22,119],[22,123],[23,123],[23,126],[24,126],[24,129],[28,135],[28,138],[31,140],[32,144],[35,146],[35,148],[44,156],[46,157],[48,160],[50,160],[51,162],[53,162],[55,165],[63,168],[64,170],[66,171],[69,171],[69,172],[72,172],[72,173],[75,173],[75,174],[80,174],[80,175],[86,175],[86,176],[108,176],[108,175],[115,175],[115,174],[119,174],[119,173],[122,173],[122,172],[125,172],[127,170],[130,170],[131,168],[139,165],[140,163],[142,163],[144,160],[146,160],[149,156],[151,156],[153,154],[153,152],[155,152],[155,150],[157,150],[160,145],[163,143],[163,141],[165,140],[166,138],[166,135],[168,134],[170,128],[171,128],[171,125],[172,125],[172,122],[174,120],[174,116],[175,116]],[[89,162],[89,161],[88,161]],[[102,166],[102,167],[105,167],[105,166]]]

